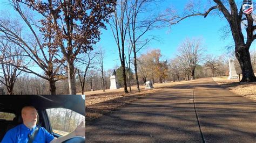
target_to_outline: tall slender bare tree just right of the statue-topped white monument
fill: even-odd
[[[118,8],[117,8],[118,6]],[[121,0],[116,5],[116,8],[111,15],[111,19],[109,25],[111,27],[114,40],[116,40],[118,52],[119,52],[119,59],[121,62],[121,66],[123,69],[123,79],[124,79],[124,92],[128,92],[127,90],[127,83],[126,83],[126,71],[125,71],[125,38],[127,34],[127,27],[129,25],[129,17],[125,16],[128,9],[127,0]]]

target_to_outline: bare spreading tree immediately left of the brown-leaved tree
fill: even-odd
[[[44,74],[40,73],[40,71],[35,68],[29,67],[29,65],[26,66],[26,64],[19,65],[18,69],[26,73],[35,74],[49,81],[50,92],[55,95],[55,82],[64,78],[62,76],[64,59],[57,58],[58,55],[56,55],[56,51],[51,50],[52,45],[47,42],[42,42],[43,39],[36,33],[39,26],[32,21],[31,16],[24,14],[19,3],[12,1],[11,5],[18,12],[19,16],[21,16],[25,25],[18,22],[18,20],[11,20],[8,16],[2,17],[0,19],[0,38],[12,42],[23,49],[24,54],[26,54],[28,60],[31,61],[31,64],[41,68]],[[28,29],[25,29],[24,26],[27,26]]]

